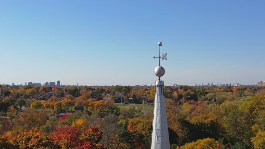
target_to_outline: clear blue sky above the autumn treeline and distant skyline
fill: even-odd
[[[265,1],[0,2],[0,84],[265,81]]]

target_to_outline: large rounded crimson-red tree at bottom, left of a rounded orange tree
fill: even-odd
[[[58,142],[62,147],[70,149],[76,147],[79,140],[79,132],[77,128],[71,126],[64,126],[53,131],[51,138]]]

